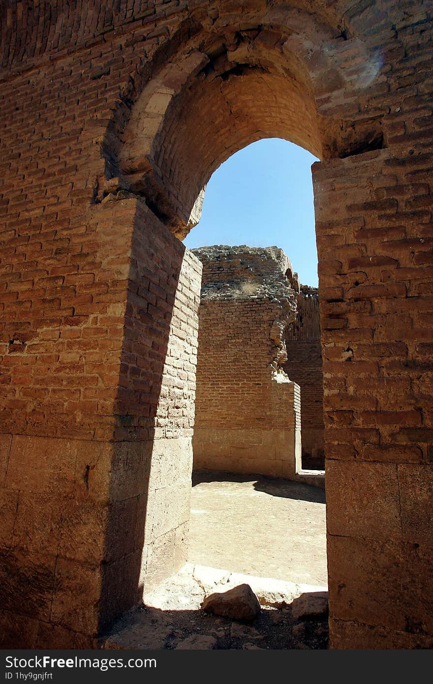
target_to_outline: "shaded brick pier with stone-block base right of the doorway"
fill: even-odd
[[[384,149],[313,165],[331,648],[433,644],[424,163]]]

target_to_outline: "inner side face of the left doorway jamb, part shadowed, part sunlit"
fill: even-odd
[[[149,582],[161,581],[186,560],[191,438],[184,437],[179,411],[173,408],[170,430],[165,415],[167,406],[178,399],[169,384],[170,363],[175,356],[180,361],[188,358],[190,351],[176,332],[182,326],[179,293],[182,286],[182,291],[187,289],[187,250],[141,204],[134,228],[123,376],[115,400],[99,634],[141,603]],[[184,402],[190,400],[186,382],[178,384],[177,392],[183,392]],[[179,504],[182,499],[184,508]],[[169,514],[169,501],[179,519]]]

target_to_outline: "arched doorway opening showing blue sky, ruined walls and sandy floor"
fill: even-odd
[[[240,150],[184,241],[204,268],[188,561],[326,588],[313,161]]]

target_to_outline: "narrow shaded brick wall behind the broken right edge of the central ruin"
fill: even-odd
[[[323,374],[318,289],[301,285],[295,321],[285,334],[283,369],[301,387],[302,464],[324,469]]]

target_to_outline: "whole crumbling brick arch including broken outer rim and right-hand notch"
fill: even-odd
[[[183,239],[199,220],[212,172],[251,142],[283,137],[320,158],[384,146],[382,116],[341,119],[318,107],[320,94],[329,105],[348,86],[339,65],[346,31],[301,10],[239,27],[220,16],[212,29],[197,16],[164,43],[162,64],[158,51],[120,98],[102,145],[109,163],[99,198],[113,188],[143,196]],[[193,37],[180,49],[186,35]],[[380,64],[359,38],[350,59],[361,86],[377,76]],[[358,93],[352,101],[361,109]]]

